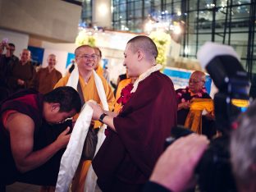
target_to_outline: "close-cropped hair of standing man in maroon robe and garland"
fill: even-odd
[[[149,59],[156,59],[158,57],[158,48],[148,36],[138,35],[130,39],[128,43],[130,43],[130,48],[134,53],[141,49],[146,53]]]

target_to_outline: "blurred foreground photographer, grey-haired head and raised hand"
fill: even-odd
[[[256,191],[256,101],[242,114],[238,128],[231,134],[231,164],[240,192]],[[184,191],[190,188],[208,140],[189,135],[171,144],[158,159],[144,192]]]

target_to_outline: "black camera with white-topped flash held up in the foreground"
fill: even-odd
[[[236,191],[236,187],[231,171],[230,133],[236,128],[236,118],[249,107],[249,77],[234,49],[229,46],[205,43],[197,57],[218,89],[214,96],[214,109],[217,130],[222,133],[221,137],[211,140],[196,167],[199,190],[233,192]],[[171,130],[171,137],[177,139],[191,132],[174,128]]]

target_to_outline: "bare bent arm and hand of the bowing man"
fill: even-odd
[[[66,128],[57,139],[43,149],[34,149],[34,121],[31,117],[15,112],[7,118],[7,131],[11,139],[11,153],[16,162],[16,167],[21,172],[37,168],[53,157],[59,149],[66,146],[70,139]]]

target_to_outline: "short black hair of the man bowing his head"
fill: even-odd
[[[44,94],[43,101],[47,103],[60,103],[60,112],[80,112],[81,100],[78,92],[69,86],[58,87],[48,94]]]

